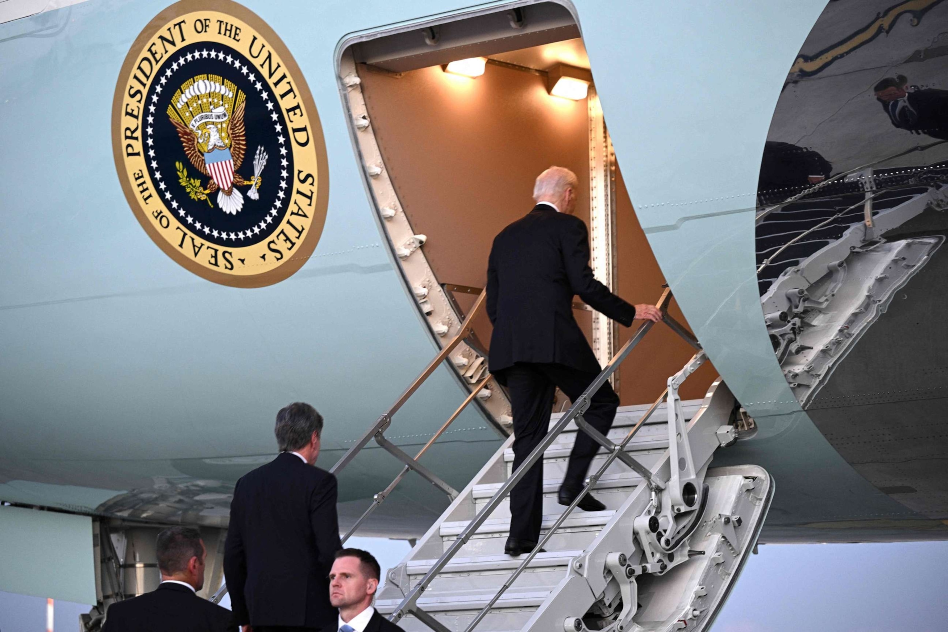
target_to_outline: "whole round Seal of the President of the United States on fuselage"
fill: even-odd
[[[159,13],[122,66],[112,139],[138,222],[195,274],[271,285],[316,248],[329,183],[316,106],[248,9],[184,0]]]

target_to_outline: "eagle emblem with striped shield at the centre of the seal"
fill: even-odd
[[[257,189],[266,165],[266,153],[258,147],[253,160],[253,177],[246,179],[238,173],[246,155],[244,110],[246,97],[232,82],[215,75],[198,75],[189,79],[174,93],[168,104],[168,118],[172,121],[185,156],[191,165],[205,177],[189,178],[180,162],[178,181],[191,199],[206,200],[217,194],[217,205],[227,214],[238,214],[244,208],[244,195],[237,189],[249,186],[247,196],[259,199]]]

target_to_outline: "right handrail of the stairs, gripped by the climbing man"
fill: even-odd
[[[668,325],[669,328],[671,328],[673,331],[675,331],[675,333],[682,336],[685,342],[687,342],[688,344],[691,344],[692,346],[698,345],[698,348],[700,349],[701,346],[700,344],[698,344],[695,337],[691,335],[690,332],[687,332],[687,330],[684,329],[682,325],[677,323],[674,319],[672,319],[670,316],[666,314],[670,299],[671,299],[671,291],[670,289],[665,288],[665,291],[662,293],[662,297],[659,299],[658,303],[656,303],[655,305],[655,307],[658,307],[658,309],[662,312],[662,316],[663,316],[662,322],[665,322],[665,324]],[[601,433],[599,433],[592,426],[590,426],[585,421],[585,419],[582,418],[583,414],[586,412],[586,410],[590,406],[593,395],[599,390],[599,388],[607,380],[609,380],[610,376],[612,375],[612,373],[615,372],[619,364],[621,364],[622,362],[626,360],[631,350],[635,348],[635,346],[639,344],[639,342],[641,342],[643,338],[645,338],[646,334],[648,333],[648,330],[651,329],[652,325],[654,325],[654,323],[652,323],[651,321],[647,321],[646,323],[643,323],[642,325],[640,325],[639,328],[632,335],[632,337],[629,338],[629,341],[627,341],[626,344],[623,344],[622,348],[618,351],[618,353],[615,354],[615,356],[612,357],[611,361],[605,366],[605,368],[603,368],[603,370],[599,373],[599,375],[596,376],[595,380],[593,380],[593,382],[586,388],[583,394],[574,401],[573,406],[570,408],[569,412],[567,412],[566,415],[563,415],[561,418],[556,420],[556,424],[554,425],[554,427],[549,430],[549,432],[546,434],[545,437],[543,437],[543,439],[539,442],[539,444],[533,450],[533,452],[531,452],[530,455],[527,456],[527,458],[522,463],[520,463],[520,467],[517,468],[517,470],[513,474],[511,474],[511,476],[506,480],[506,482],[503,485],[501,485],[501,489],[498,490],[497,493],[494,494],[494,496],[487,502],[487,504],[483,507],[483,509],[481,511],[478,511],[478,513],[474,516],[474,518],[467,524],[467,527],[465,527],[465,530],[463,530],[461,534],[458,535],[458,537],[454,540],[454,542],[451,543],[451,545],[442,554],[442,556],[438,558],[438,560],[434,563],[434,565],[430,569],[428,569],[428,572],[425,574],[425,576],[415,586],[413,586],[410,589],[409,593],[405,596],[402,602],[398,604],[398,607],[395,608],[394,612],[392,612],[392,616],[390,617],[390,620],[392,622],[397,623],[408,612],[411,612],[420,621],[422,621],[423,623],[426,623],[428,627],[431,627],[437,632],[447,631],[447,627],[445,627],[440,622],[435,620],[434,617],[432,617],[430,614],[425,612],[422,608],[418,607],[417,605],[418,599],[421,597],[421,594],[428,588],[431,582],[435,579],[435,577],[437,577],[437,575],[447,566],[448,562],[450,562],[451,559],[453,559],[454,556],[458,553],[458,551],[460,551],[461,548],[463,548],[465,544],[467,544],[467,541],[470,540],[470,538],[474,535],[474,533],[477,532],[477,530],[481,528],[481,526],[487,520],[487,518],[490,517],[490,515],[498,507],[500,507],[501,502],[503,502],[503,500],[510,494],[513,488],[520,482],[520,479],[522,479],[523,476],[526,475],[526,473],[530,470],[530,468],[532,468],[534,464],[536,464],[537,461],[543,457],[543,453],[546,452],[546,450],[554,443],[556,438],[559,437],[559,435],[563,432],[566,426],[569,425],[569,423],[573,420],[575,420],[576,427],[578,428],[579,432],[585,432],[590,437],[593,437],[593,439],[597,443],[599,443],[601,446],[605,447],[609,451],[610,453],[608,456],[609,463],[611,463],[616,458],[618,458],[622,460],[624,463],[626,463],[627,465],[629,465],[629,467],[634,469],[636,473],[642,475],[646,484],[652,490],[661,490],[665,488],[665,482],[657,480],[656,477],[645,466],[643,466],[641,463],[639,463],[630,455],[628,455],[625,452],[624,448],[628,444],[629,439],[631,439],[631,437],[634,437],[635,433],[638,432],[638,429],[641,428],[642,425],[645,423],[645,420],[651,416],[651,414],[655,411],[655,409],[658,408],[658,406],[661,404],[662,400],[665,399],[665,397],[667,396],[667,388],[665,389],[665,392],[662,394],[659,400],[656,400],[656,402],[648,409],[646,415],[644,415],[643,418],[641,418],[639,422],[635,425],[635,427],[633,427],[632,430],[629,431],[629,435],[619,445],[612,443],[608,437],[604,437]],[[699,351],[699,355],[700,354],[702,354],[702,351]],[[490,607],[493,606],[493,604],[496,604],[497,600],[500,599],[500,595],[502,595],[503,591],[505,591],[510,585],[513,584],[513,582],[520,575],[520,572],[522,572],[522,570],[526,567],[526,565],[529,564],[530,561],[533,560],[539,548],[541,548],[542,544],[545,544],[550,539],[551,534],[555,532],[556,529],[558,529],[560,525],[562,525],[563,521],[566,519],[566,516],[571,511],[574,510],[574,508],[579,504],[582,497],[586,493],[589,493],[589,491],[595,485],[595,482],[598,481],[598,477],[601,476],[602,472],[605,471],[605,470],[602,470],[601,468],[600,470],[601,471],[597,471],[596,474],[593,474],[593,476],[589,478],[589,480],[583,486],[583,491],[576,496],[573,503],[570,504],[570,506],[567,508],[566,511],[563,512],[562,515],[560,515],[560,517],[556,520],[556,523],[554,524],[553,528],[547,531],[546,536],[541,540],[540,543],[538,543],[537,547],[534,548],[533,552],[527,557],[527,559],[524,560],[523,563],[521,563],[520,567],[518,567],[517,570],[514,572],[514,575],[510,579],[508,579],[508,581],[503,586],[501,586],[501,591],[499,592],[499,594],[495,595],[494,599],[492,599],[491,602],[487,604],[487,606],[478,614],[474,622],[471,623],[471,625],[469,625],[466,628],[466,632],[469,632],[470,630],[473,629],[474,625],[476,625],[477,623],[480,623],[483,617],[486,616]]]

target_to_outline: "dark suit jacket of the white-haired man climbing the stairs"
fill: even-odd
[[[514,362],[557,362],[600,371],[576,324],[574,295],[626,326],[635,318],[635,307],[596,281],[589,261],[586,223],[546,204],[494,238],[487,263],[487,315],[494,324],[491,373]]]

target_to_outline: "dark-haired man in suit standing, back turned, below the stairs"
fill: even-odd
[[[314,467],[322,435],[315,408],[286,406],[275,432],[281,454],[237,481],[230,503],[230,606],[245,632],[319,630],[337,617],[328,579],[341,546],[336,476]]]

